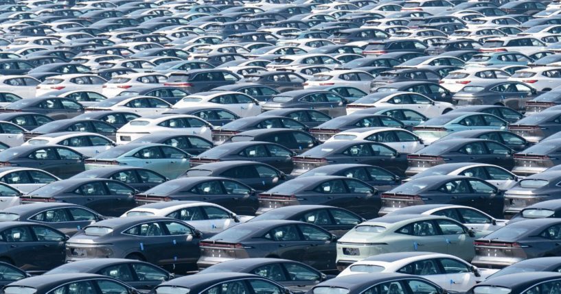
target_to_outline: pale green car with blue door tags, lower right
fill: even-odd
[[[337,241],[337,268],[390,252],[435,252],[470,261],[475,255],[473,241],[486,232],[436,215],[388,215],[356,225]]]

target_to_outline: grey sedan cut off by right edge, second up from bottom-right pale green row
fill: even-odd
[[[505,216],[517,214],[541,201],[558,199],[561,171],[545,171],[525,177],[505,192]]]

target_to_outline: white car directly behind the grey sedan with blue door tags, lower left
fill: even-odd
[[[218,233],[238,223],[245,223],[251,216],[238,216],[235,213],[209,202],[200,201],[168,201],[164,203],[146,204],[125,212],[121,217],[138,217],[155,215],[181,219],[201,232]]]

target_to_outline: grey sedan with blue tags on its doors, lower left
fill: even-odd
[[[128,258],[185,272],[196,269],[201,232],[168,217],[117,217],[88,225],[67,241],[67,262]]]

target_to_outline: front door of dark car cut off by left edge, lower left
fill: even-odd
[[[62,265],[66,256],[66,236],[46,225],[30,225],[30,228],[36,239],[34,252],[41,252],[41,258],[34,258],[37,270],[45,271]]]

